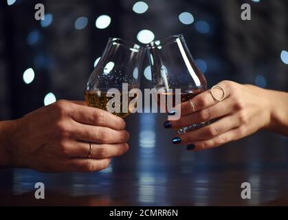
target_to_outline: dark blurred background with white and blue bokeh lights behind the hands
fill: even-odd
[[[34,18],[36,3],[45,6],[44,21]],[[243,3],[251,5],[251,21],[241,20]],[[1,0],[0,120],[20,118],[59,99],[83,100],[109,37],[146,44],[172,34],[184,34],[209,87],[234,80],[288,91],[286,0]],[[142,72],[142,87],[151,87],[147,58]],[[164,114],[129,116],[131,151],[99,173],[1,169],[0,203],[39,204],[36,181],[51,191],[49,204],[287,201],[287,137],[261,131],[225,147],[190,153],[170,144],[173,133],[162,129],[165,119]],[[240,197],[243,181],[252,184],[249,201]]]

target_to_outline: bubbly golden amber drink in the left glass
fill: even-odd
[[[114,96],[109,97],[107,96],[107,92],[105,91],[85,91],[84,96],[85,96],[85,102],[89,107],[94,107],[98,109],[103,109],[107,111],[107,104],[109,100],[111,100]],[[112,94],[112,93],[111,93]],[[121,112],[111,112],[113,115],[119,116],[120,118],[125,118],[127,117],[131,112],[122,112],[122,107],[123,107],[123,96],[127,96],[128,94],[120,94],[120,111]],[[133,99],[133,97],[128,97],[128,104],[130,100]],[[115,107],[115,102],[113,103],[113,107]]]

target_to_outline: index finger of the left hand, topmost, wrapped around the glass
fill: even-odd
[[[82,124],[107,126],[111,129],[122,130],[125,128],[125,121],[108,111],[87,107],[81,104],[72,104],[71,118]]]

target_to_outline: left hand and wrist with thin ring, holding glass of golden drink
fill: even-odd
[[[0,165],[43,172],[93,172],[128,151],[125,122],[85,102],[60,100],[0,122]],[[93,153],[89,153],[89,143]]]

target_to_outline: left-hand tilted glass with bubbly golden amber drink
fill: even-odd
[[[85,89],[85,101],[90,107],[107,109],[109,100],[114,98],[114,92],[120,91],[119,102],[113,102],[113,108],[120,112],[112,112],[125,118],[129,115],[129,107],[126,104],[133,97],[129,97],[128,91],[140,87],[140,69],[144,57],[145,48],[140,45],[124,41],[122,39],[109,39],[100,61],[93,70]],[[128,91],[122,90],[122,84],[128,84]]]

